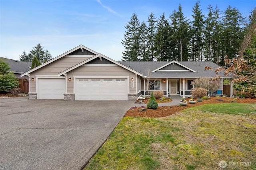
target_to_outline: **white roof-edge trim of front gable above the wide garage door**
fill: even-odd
[[[108,57],[106,57],[106,56],[104,56],[104,55],[102,55],[100,53],[95,55],[94,57],[91,57],[90,59],[87,59],[87,60],[85,60],[85,61],[83,61],[83,62],[81,62],[79,64],[76,64],[76,65],[68,68],[67,70],[64,70],[63,72],[60,72],[58,74],[58,76],[61,76],[61,75],[65,74],[65,73],[67,73],[67,72],[70,72],[71,70],[74,70],[75,68],[78,68],[79,66],[82,66],[83,64],[89,63],[90,61],[96,59],[97,57],[102,57],[102,58],[104,58],[104,59],[106,59],[108,61],[111,61],[114,64],[117,64],[118,66],[121,66],[121,67],[123,67],[123,68],[125,68],[125,69],[127,69],[127,70],[129,70],[131,72],[134,72],[135,74],[138,74],[139,76],[143,76],[140,72],[137,72],[136,70],[133,70],[133,69],[127,67],[127,66],[124,66],[123,64],[120,64],[117,61],[114,61],[114,60],[112,60],[112,59],[110,59],[110,58],[108,58]]]

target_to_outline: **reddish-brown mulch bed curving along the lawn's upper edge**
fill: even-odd
[[[186,99],[189,100],[188,98]],[[172,115],[178,111],[187,109],[189,107],[200,106],[203,104],[218,104],[218,103],[250,103],[256,104],[256,98],[244,98],[244,99],[234,99],[234,98],[222,98],[222,97],[211,97],[209,100],[203,100],[202,102],[196,102],[196,104],[187,104],[187,106],[159,106],[157,109],[147,109],[146,111],[138,111],[141,107],[129,109],[124,117],[166,117]],[[145,102],[146,103],[146,102]]]

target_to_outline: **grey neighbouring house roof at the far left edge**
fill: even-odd
[[[18,61],[13,59],[6,59],[3,57],[0,57],[0,59],[5,63],[8,63],[10,66],[10,71],[14,72],[15,74],[23,74],[24,72],[31,69],[31,61]]]

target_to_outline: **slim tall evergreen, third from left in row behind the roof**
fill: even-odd
[[[144,58],[144,61],[154,61],[155,57],[155,48],[154,48],[154,39],[156,36],[156,18],[154,17],[154,14],[150,14],[148,16],[148,56]]]

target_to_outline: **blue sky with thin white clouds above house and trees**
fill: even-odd
[[[0,0],[0,57],[19,60],[41,43],[52,57],[82,44],[116,61],[122,59],[124,25],[133,13],[140,22],[152,12],[166,18],[179,4],[191,18],[196,0]],[[228,5],[244,17],[256,6],[256,0],[201,0],[204,15],[207,7]]]

